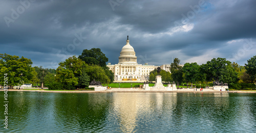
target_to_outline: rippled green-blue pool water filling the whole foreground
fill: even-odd
[[[9,129],[2,121],[0,132],[256,132],[255,93],[8,95]]]

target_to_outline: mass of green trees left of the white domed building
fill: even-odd
[[[25,83],[41,85],[49,89],[74,90],[86,88],[95,79],[103,84],[114,81],[114,73],[106,67],[109,61],[100,48],[84,49],[78,57],[73,56],[60,62],[58,68],[48,69],[42,66],[32,67],[31,59],[0,54],[0,75],[8,74],[8,86],[20,86]],[[4,80],[0,79],[4,86]]]

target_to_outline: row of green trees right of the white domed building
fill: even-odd
[[[161,70],[160,75],[162,81],[175,81],[177,86],[180,84],[188,84],[193,86],[193,83],[210,84],[213,81],[228,83],[229,86],[238,89],[242,85],[256,82],[256,56],[247,61],[245,66],[240,66],[237,63],[227,61],[225,58],[214,58],[207,61],[206,64],[198,65],[197,63],[185,63],[182,67],[180,60],[175,58],[170,64],[170,72]],[[156,70],[150,72],[150,81],[155,81],[157,75]],[[239,87],[236,87],[239,86]],[[255,89],[255,85],[247,85]]]

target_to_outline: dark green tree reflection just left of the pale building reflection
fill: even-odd
[[[106,93],[59,93],[55,97],[55,124],[60,129],[100,130],[104,127],[108,101]]]

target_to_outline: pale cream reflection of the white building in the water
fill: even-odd
[[[121,132],[134,132],[141,119],[151,119],[154,113],[169,108],[172,111],[177,104],[177,93],[112,93],[113,106],[110,119],[116,120]],[[145,125],[146,126],[146,125]]]

